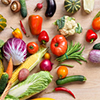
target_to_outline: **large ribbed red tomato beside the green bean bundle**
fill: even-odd
[[[50,48],[53,54],[61,56],[66,53],[67,40],[63,35],[56,35],[51,41]]]

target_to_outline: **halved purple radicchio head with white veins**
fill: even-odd
[[[18,38],[10,38],[3,46],[3,53],[8,61],[12,57],[13,64],[19,65],[26,59],[26,43]]]

